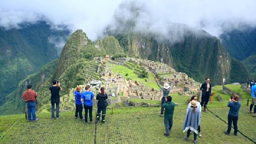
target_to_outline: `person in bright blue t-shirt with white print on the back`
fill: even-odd
[[[84,101],[84,110],[85,110],[85,124],[87,124],[88,110],[90,123],[92,124],[92,100],[94,100],[94,95],[91,91],[89,85],[85,86],[85,92],[82,93],[81,101]]]

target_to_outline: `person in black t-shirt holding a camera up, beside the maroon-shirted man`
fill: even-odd
[[[60,82],[53,80],[52,86],[49,88],[51,91],[51,105],[52,105],[52,120],[54,120],[54,107],[56,105],[56,120],[60,118],[59,112],[60,112],[60,91],[62,91],[62,88],[60,86]]]

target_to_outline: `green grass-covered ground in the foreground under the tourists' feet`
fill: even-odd
[[[248,107],[242,102],[239,113],[238,129],[249,138],[255,139],[256,118],[248,114]],[[167,144],[167,143],[192,143],[184,138],[186,133],[182,131],[182,125],[186,114],[187,105],[176,106],[173,116],[173,127],[171,137],[164,137],[164,119],[159,117],[160,108],[120,108],[107,110],[105,124],[84,124],[84,121],[75,120],[74,112],[60,113],[59,120],[51,120],[50,113],[39,113],[39,121],[28,123],[25,117],[12,127],[12,129],[0,139],[0,143],[100,143],[100,144]],[[208,108],[227,121],[227,102],[211,103]],[[84,112],[83,112],[84,114]],[[21,115],[1,116],[1,135],[11,126]],[[93,112],[95,119],[95,110]],[[227,124],[210,112],[202,113],[201,132],[202,138],[198,138],[198,143],[202,144],[226,144],[226,143],[252,143],[242,134],[238,136],[226,136],[223,134],[227,130]],[[3,125],[8,125],[3,128]],[[232,129],[233,132],[233,129]]]

